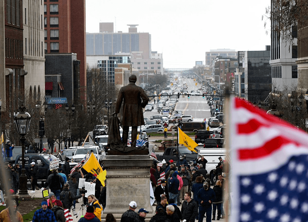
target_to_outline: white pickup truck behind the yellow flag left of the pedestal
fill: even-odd
[[[103,161],[104,158],[106,158],[106,153],[104,150],[101,150],[99,146],[77,146],[75,155],[72,156],[72,161],[79,163],[86,155],[87,153],[93,152],[94,156],[96,157],[97,161],[99,163]]]

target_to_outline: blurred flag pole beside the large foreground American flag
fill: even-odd
[[[227,123],[227,128],[226,128],[226,131],[225,131],[225,138],[226,138],[226,142],[225,142],[225,148],[226,148],[226,151],[227,153],[230,152],[230,134],[229,134],[229,130],[230,130],[230,119],[231,119],[231,116],[230,116],[230,101],[231,101],[231,95],[230,95],[230,88],[229,86],[226,87],[226,90],[225,90],[225,104],[224,104],[224,112],[227,114],[225,115],[225,118],[226,118],[226,123]],[[228,163],[228,165],[230,166],[230,163]],[[228,167],[229,168],[229,167]],[[230,169],[229,169],[230,170]],[[226,217],[226,221],[229,222],[229,207],[230,207],[230,190],[229,190],[229,182],[230,182],[230,176],[229,176],[229,172],[227,174],[227,181],[226,183],[224,183],[224,189],[225,189],[225,217]]]

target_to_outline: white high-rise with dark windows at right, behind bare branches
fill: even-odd
[[[277,10],[277,3],[275,0],[271,1],[271,14],[274,15]],[[272,87],[277,92],[282,91],[285,87],[289,89],[297,86],[298,74],[297,74],[297,39],[294,39],[292,43],[286,42],[277,33],[276,28],[278,21],[271,17],[271,54],[270,54],[270,66],[272,73]],[[297,37],[297,27],[292,27],[292,35]],[[289,48],[290,46],[290,48]]]

